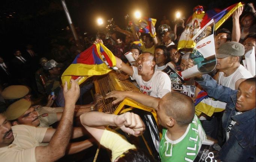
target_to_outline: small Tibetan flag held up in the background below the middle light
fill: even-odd
[[[137,32],[149,33],[151,37],[155,37],[157,33],[155,32],[155,23],[157,19],[153,18],[143,18],[138,21],[134,21],[135,30]]]

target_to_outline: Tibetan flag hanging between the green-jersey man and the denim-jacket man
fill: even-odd
[[[200,91],[195,100],[196,115],[200,116],[202,113],[207,116],[212,116],[215,112],[222,112],[226,108],[226,103],[215,100],[208,96],[205,91]]]

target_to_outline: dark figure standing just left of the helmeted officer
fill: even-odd
[[[40,60],[39,60],[39,64],[40,64],[40,68],[38,69],[38,71],[36,71],[35,73],[35,78],[36,78],[36,86],[37,86],[37,90],[42,93],[42,94],[45,94],[46,91],[44,89],[44,85],[40,79],[40,75],[42,76],[43,80],[44,80],[44,83],[46,81],[48,81],[48,78],[47,78],[47,75],[45,74],[44,72],[44,64],[47,62],[47,58],[45,57],[42,57]]]

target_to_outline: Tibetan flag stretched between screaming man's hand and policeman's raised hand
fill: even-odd
[[[93,75],[103,75],[117,69],[116,58],[102,43],[93,44],[75,57],[71,65],[62,74],[62,83],[72,78],[81,84]]]

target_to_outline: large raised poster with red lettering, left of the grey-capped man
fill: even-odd
[[[194,66],[181,72],[184,78],[195,77],[214,70],[216,66],[214,19],[200,29],[192,40],[196,46],[190,52],[189,58],[193,60]]]

